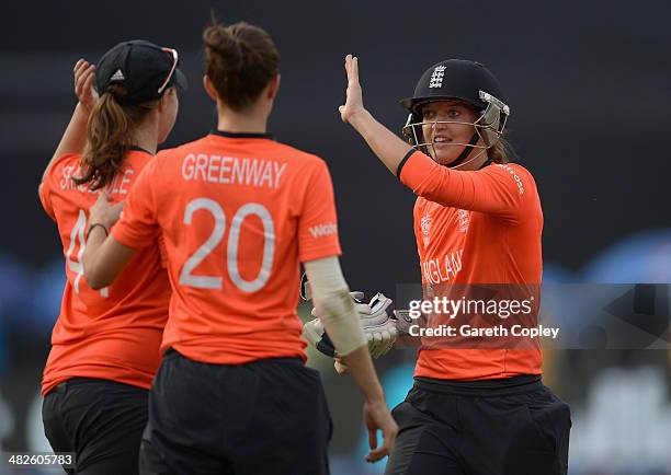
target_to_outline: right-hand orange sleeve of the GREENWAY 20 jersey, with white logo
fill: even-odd
[[[319,160],[308,179],[298,218],[298,258],[305,263],[341,254],[333,183]]]

